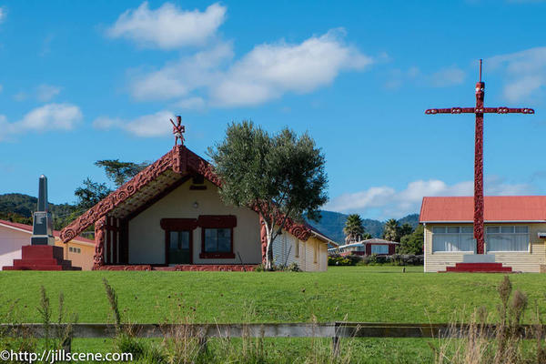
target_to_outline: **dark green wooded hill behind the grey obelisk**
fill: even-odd
[[[32,224],[32,214],[37,204],[38,199],[36,197],[24,194],[0,195],[0,219]],[[55,228],[63,227],[66,218],[74,214],[76,209],[76,206],[69,204],[49,204],[49,211],[54,217]]]

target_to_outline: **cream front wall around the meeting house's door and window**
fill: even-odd
[[[162,218],[197,218],[199,215],[235,215],[233,228],[233,259],[202,259],[201,227],[193,231],[194,264],[259,264],[261,247],[258,214],[249,208],[225,205],[217,187],[205,181],[205,190],[191,190],[191,181],[177,187],[151,207],[129,221],[129,264],[165,264],[165,230]],[[197,202],[198,207],[194,204]],[[239,259],[239,255],[241,259]]]

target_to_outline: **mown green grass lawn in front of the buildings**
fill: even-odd
[[[125,320],[164,322],[449,322],[485,306],[495,311],[501,274],[424,274],[422,267],[330,267],[323,273],[289,272],[0,272],[0,316],[16,302],[18,320],[40,322],[40,286],[59,292],[78,322],[112,322],[102,279],[116,288]],[[546,276],[513,274],[520,289],[546,308]],[[530,315],[527,316],[529,320]],[[433,359],[434,339],[346,339],[350,362],[413,363]],[[237,345],[237,340],[234,341]],[[266,339],[267,362],[305,361],[309,339]],[[329,340],[320,345],[328,350]],[[75,339],[73,350],[109,351],[109,339]],[[300,360],[301,359],[301,360]],[[235,361],[237,362],[237,361]]]

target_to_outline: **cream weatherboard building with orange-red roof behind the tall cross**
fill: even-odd
[[[473,198],[423,198],[425,272],[458,271],[463,264],[485,269],[478,262],[499,271],[545,271],[546,196],[486,196],[484,207],[485,254],[476,254]]]

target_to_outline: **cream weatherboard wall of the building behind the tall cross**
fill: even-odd
[[[471,224],[451,224],[452,226],[470,226]],[[495,252],[495,262],[502,263],[505,267],[511,267],[517,272],[540,272],[541,265],[546,264],[546,249],[543,238],[538,237],[538,232],[546,231],[546,224],[486,224],[485,226],[517,225],[528,226],[530,234],[530,250],[527,252]],[[448,226],[448,224],[427,224],[425,227],[425,272],[445,271],[447,267],[461,263],[466,254],[457,252],[432,252],[432,227]]]

